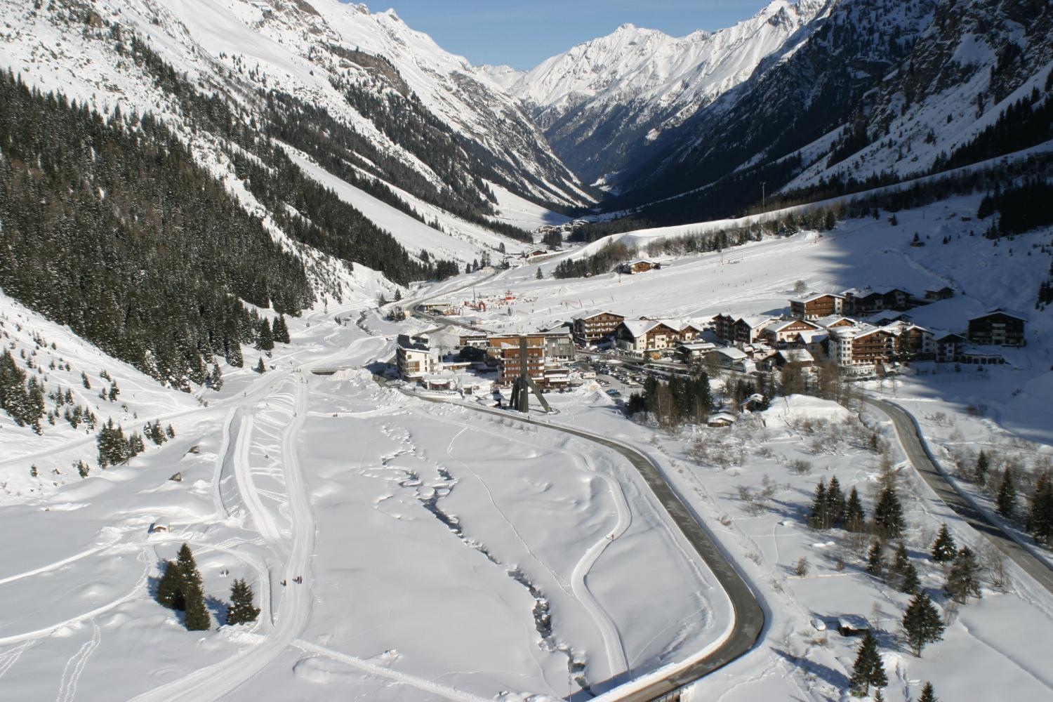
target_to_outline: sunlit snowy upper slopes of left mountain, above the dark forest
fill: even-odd
[[[267,93],[323,111],[356,135],[353,165],[365,177],[439,209],[497,214],[495,188],[535,202],[591,201],[517,100],[391,11],[338,0],[64,0],[39,8],[2,0],[0,8],[0,65],[103,111],[184,121],[179,100],[121,55],[117,40],[135,36],[197,89],[259,123],[269,121]],[[486,239],[484,229],[470,236]]]

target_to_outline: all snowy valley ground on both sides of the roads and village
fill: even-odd
[[[1048,266],[1048,257],[1029,256],[1048,233],[992,246],[969,235],[978,227],[962,218],[975,207],[975,198],[960,198],[900,213],[895,226],[850,221],[821,237],[683,257],[620,280],[537,280],[536,266],[476,274],[475,293],[517,297],[483,314],[486,326],[536,328],[590,307],[701,319],[775,312],[796,280],[915,292],[951,283],[960,295],[913,314],[957,328],[987,307],[1028,308],[1034,290],[1014,275]],[[926,247],[909,247],[915,230]],[[723,594],[624,461],[378,384],[370,368],[392,357],[393,335],[421,325],[360,316],[363,306],[292,320],[293,343],[279,344],[266,374],[250,370],[258,354],[249,350],[244,368],[224,367],[222,390],[187,395],[2,299],[4,342],[24,349],[51,385],[71,388],[102,421],[139,429],[160,419],[176,438],[100,470],[84,426],[60,420],[37,437],[0,423],[0,526],[9,535],[0,560],[0,697],[560,698],[582,681],[601,691],[723,635]],[[1030,466],[1053,454],[1050,338],[1048,318],[1037,318],[1029,346],[989,376],[916,375],[868,388],[913,412],[948,468],[955,452],[980,446]],[[110,385],[103,370],[120,385],[114,400],[99,397]],[[945,641],[916,659],[899,635],[907,597],[863,571],[866,544],[804,526],[820,478],[836,475],[873,507],[880,457],[854,439],[859,427],[845,408],[795,397],[734,429],[669,435],[625,420],[598,387],[550,397],[559,409],[551,421],[654,457],[756,587],[769,617],[761,642],[698,683],[694,699],[848,699],[857,640],[812,625],[845,614],[880,627],[890,702],[915,699],[925,680],[947,702],[1053,699],[1053,597],[1011,564],[1008,591],[987,584],[979,602],[954,615]],[[942,607],[943,574],[927,557],[940,522],[959,543],[989,549],[914,475],[885,418],[861,419],[892,446],[907,545]],[[93,462],[87,479],[71,467],[77,460]],[[177,472],[181,481],[170,480]],[[148,534],[156,523],[168,530]],[[232,580],[246,578],[263,609],[255,627],[187,633],[151,599],[159,561],[183,541],[214,598],[214,621]],[[804,576],[795,573],[801,558]]]

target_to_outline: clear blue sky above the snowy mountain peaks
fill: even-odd
[[[472,63],[533,68],[574,44],[632,22],[682,37],[750,17],[766,0],[365,0]]]

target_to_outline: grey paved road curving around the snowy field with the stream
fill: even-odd
[[[413,396],[429,402],[446,402],[445,400],[422,395],[413,394]],[[513,419],[518,422],[552,429],[553,432],[570,434],[600,444],[624,457],[633,464],[633,467],[636,468],[640,476],[643,477],[644,482],[654,493],[658,502],[669,513],[692,547],[702,557],[702,560],[706,561],[713,575],[716,576],[720,586],[728,594],[732,603],[735,621],[731,635],[724,641],[701,659],[674,668],[660,679],[649,681],[635,687],[632,691],[619,695],[617,689],[612,690],[614,695],[612,699],[627,700],[629,702],[644,702],[647,700],[658,699],[731,663],[753,648],[754,643],[756,643],[764,627],[764,613],[757,601],[756,595],[743,576],[735,568],[728,555],[717,545],[713,535],[706,528],[701,520],[680,500],[673,487],[665,482],[661,470],[650,458],[631,446],[590,432],[520,417],[514,413],[499,412],[486,407],[461,404],[459,402],[454,404],[473,412],[493,415],[502,419]]]

